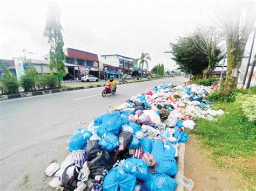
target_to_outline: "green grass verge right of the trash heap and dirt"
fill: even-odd
[[[192,133],[200,136],[218,166],[238,169],[247,180],[255,182],[256,169],[250,162],[256,157],[255,124],[248,121],[239,100],[215,102],[214,109],[226,113],[217,121],[198,118]]]

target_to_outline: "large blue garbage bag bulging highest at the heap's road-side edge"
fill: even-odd
[[[109,114],[99,116],[95,119],[94,124],[95,126],[100,125],[99,128],[95,129],[95,132],[98,136],[102,137],[105,132],[117,135],[123,122],[120,111],[114,111]]]

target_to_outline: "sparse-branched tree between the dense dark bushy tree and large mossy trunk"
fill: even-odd
[[[197,48],[207,56],[208,66],[203,71],[203,77],[208,78],[218,63],[225,58],[225,53],[219,44],[221,39],[210,30],[198,30],[193,40]],[[199,40],[200,39],[200,40]]]

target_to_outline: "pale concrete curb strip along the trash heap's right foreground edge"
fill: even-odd
[[[184,176],[184,158],[185,158],[185,143],[179,144],[179,157],[177,159],[178,173],[175,175],[175,179],[178,182],[176,191],[184,191],[182,176]]]

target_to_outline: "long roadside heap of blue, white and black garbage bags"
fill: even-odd
[[[70,190],[175,190],[179,143],[194,119],[214,120],[209,87],[169,84],[146,90],[78,129],[69,155],[46,168],[52,188]]]

